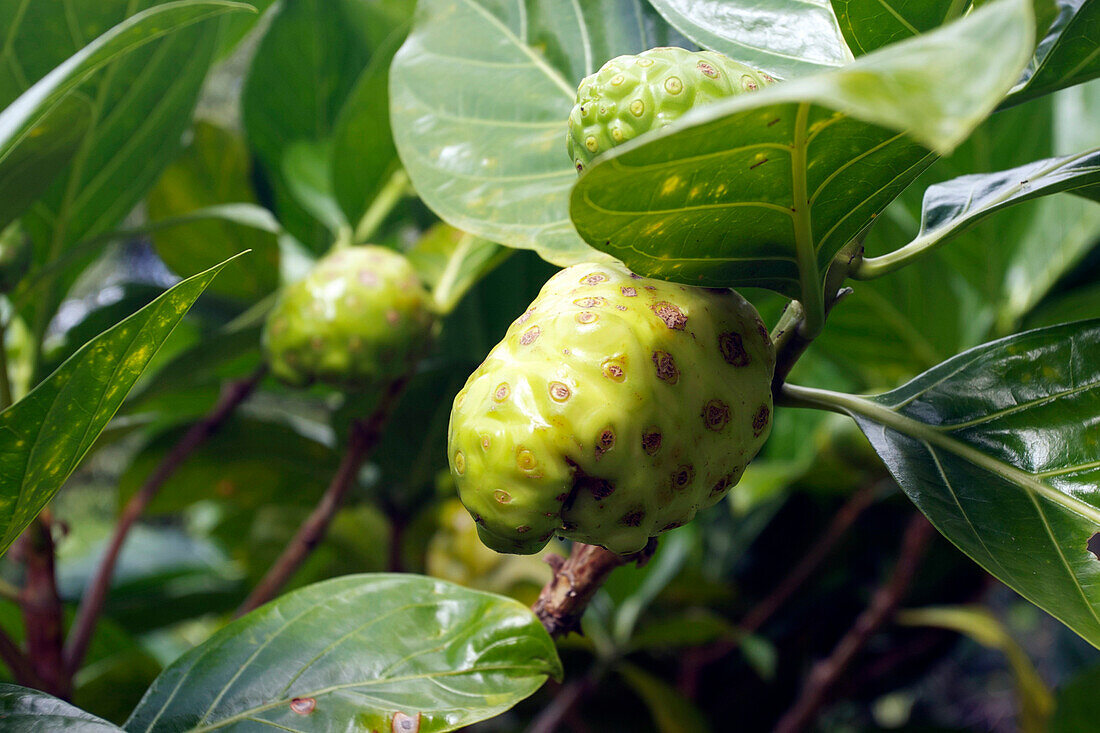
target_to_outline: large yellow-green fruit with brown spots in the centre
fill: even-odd
[[[771,430],[776,352],[733,291],[561,271],[459,392],[449,458],[482,541],[618,554],[722,499]]]

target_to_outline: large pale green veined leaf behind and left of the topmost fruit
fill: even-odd
[[[422,0],[391,73],[417,193],[448,223],[556,264],[600,256],[569,220],[569,110],[584,76],[669,31],[640,0]]]

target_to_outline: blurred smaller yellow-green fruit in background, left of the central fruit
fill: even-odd
[[[431,342],[431,298],[400,254],[352,247],[286,287],[264,329],[272,373],[305,386],[366,389],[405,374]]]

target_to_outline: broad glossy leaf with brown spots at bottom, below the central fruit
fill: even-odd
[[[180,657],[125,729],[388,731],[399,714],[437,733],[560,675],[553,642],[516,601],[419,576],[346,576],[284,595]]]

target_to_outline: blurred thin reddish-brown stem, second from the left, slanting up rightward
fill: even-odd
[[[91,642],[91,635],[96,630],[96,622],[103,610],[107,601],[107,593],[111,587],[111,578],[114,576],[114,567],[118,564],[122,546],[127,541],[131,527],[145,513],[150,503],[156,496],[161,486],[176,472],[180,464],[195,452],[195,450],[206,442],[218,429],[224,425],[226,420],[233,412],[255,391],[256,385],[267,373],[266,366],[258,368],[251,376],[237,380],[227,384],[218,398],[213,408],[201,420],[190,427],[179,439],[170,452],[164,457],[156,470],[145,480],[141,490],[130,497],[118,524],[114,526],[114,534],[107,547],[107,553],[99,561],[95,577],[88,583],[88,589],[80,600],[80,608],[77,611],[76,620],[69,632],[68,643],[65,646],[65,668],[69,675],[75,675],[84,661],[84,656]]]

